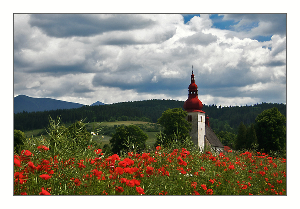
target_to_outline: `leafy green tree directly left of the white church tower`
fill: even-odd
[[[182,136],[180,139],[189,136],[188,131],[192,130],[192,124],[185,120],[187,115],[182,108],[168,108],[162,113],[162,116],[157,119],[157,123],[162,125],[166,138],[175,138],[175,135],[178,138],[178,134]]]

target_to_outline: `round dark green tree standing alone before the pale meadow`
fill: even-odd
[[[112,134],[112,138],[109,140],[109,143],[112,145],[111,151],[113,153],[121,154],[121,151],[129,151],[131,148],[134,148],[137,152],[144,149],[147,139],[148,135],[145,134],[138,126],[122,125],[116,128],[116,132],[115,134]]]

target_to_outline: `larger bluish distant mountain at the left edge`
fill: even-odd
[[[82,104],[75,102],[62,101],[50,98],[33,98],[25,95],[14,97],[14,113],[18,112],[37,112],[56,109],[80,108]]]

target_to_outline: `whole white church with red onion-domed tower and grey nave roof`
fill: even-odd
[[[209,125],[209,118],[202,111],[202,102],[198,99],[198,86],[195,84],[195,75],[192,71],[191,84],[188,86],[188,99],[183,104],[183,108],[188,113],[186,120],[192,123],[192,130],[189,132],[192,142],[198,150],[213,150],[224,152],[224,146],[212,131]]]

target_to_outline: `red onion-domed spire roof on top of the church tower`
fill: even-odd
[[[183,108],[187,112],[203,112],[201,110],[203,105],[200,99],[198,99],[198,86],[195,84],[195,75],[193,72],[191,75],[191,84],[188,86],[188,99],[183,104]]]

